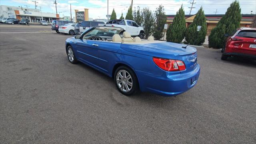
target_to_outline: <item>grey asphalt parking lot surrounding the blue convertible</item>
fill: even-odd
[[[198,47],[198,84],[124,96],[48,28],[0,25],[0,143],[254,143],[256,62]]]

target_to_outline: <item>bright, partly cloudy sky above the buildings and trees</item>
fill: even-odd
[[[0,5],[7,6],[22,6],[26,8],[35,8],[35,0],[0,0]],[[57,11],[60,12],[60,16],[70,16],[70,4],[72,17],[74,16],[74,10],[83,11],[84,8],[89,9],[89,18],[104,18],[107,14],[107,2],[109,5],[108,13],[111,14],[114,8],[117,18],[120,18],[121,14],[126,16],[128,7],[132,0],[56,0]],[[194,5],[191,14],[196,14],[199,8],[202,6],[205,14],[225,14],[230,3],[234,0],[194,0]],[[36,0],[37,6],[41,6],[42,12],[56,13],[54,0]],[[154,11],[162,4],[166,14],[176,14],[180,6],[183,4],[185,14],[190,13],[191,3],[193,0],[133,0],[134,7],[140,6],[140,9],[148,7]],[[242,14],[256,13],[256,0],[239,0]],[[39,7],[37,7],[39,9]]]

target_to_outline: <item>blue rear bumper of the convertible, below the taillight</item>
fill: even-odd
[[[140,83],[140,90],[142,92],[151,92],[162,96],[175,96],[188,91],[194,87],[198,82],[200,74],[200,66],[197,64],[196,68],[187,73],[165,72],[165,76],[155,76],[144,72],[138,76],[142,78],[143,82]]]

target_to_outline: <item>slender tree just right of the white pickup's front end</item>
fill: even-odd
[[[154,15],[149,8],[143,8],[143,19],[144,19],[144,34],[147,39],[153,32],[153,27],[155,23]]]

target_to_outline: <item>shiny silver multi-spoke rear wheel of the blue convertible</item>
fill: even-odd
[[[132,90],[132,76],[126,70],[119,70],[116,74],[116,84],[123,92]]]

